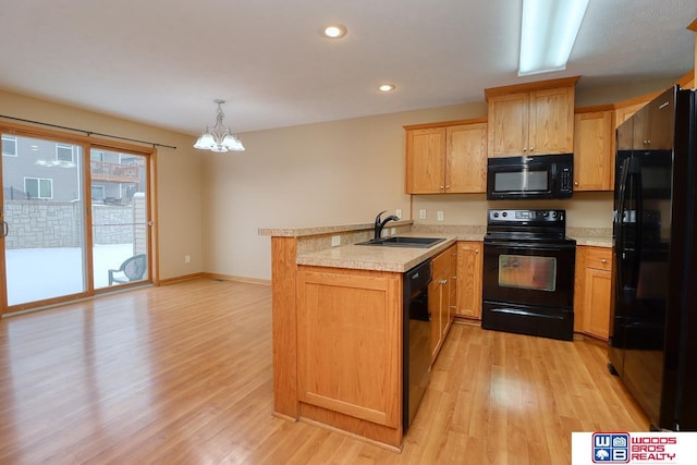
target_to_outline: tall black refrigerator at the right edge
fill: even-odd
[[[616,130],[608,367],[651,429],[697,430],[696,138],[677,86]]]

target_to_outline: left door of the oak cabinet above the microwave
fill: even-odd
[[[528,140],[529,94],[489,97],[489,157],[524,155]]]

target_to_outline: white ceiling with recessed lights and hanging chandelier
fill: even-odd
[[[517,77],[521,0],[29,0],[0,11],[0,88],[188,134],[223,98],[235,132],[578,88],[694,65],[695,0],[590,0],[564,72]],[[341,40],[322,25],[344,24]],[[380,95],[379,83],[396,90]],[[89,130],[89,129],[87,129]]]

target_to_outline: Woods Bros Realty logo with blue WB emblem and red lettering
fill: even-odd
[[[677,463],[676,435],[595,432],[592,462],[597,464]]]

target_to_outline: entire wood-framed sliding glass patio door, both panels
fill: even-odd
[[[150,151],[0,134],[0,314],[152,281]]]

